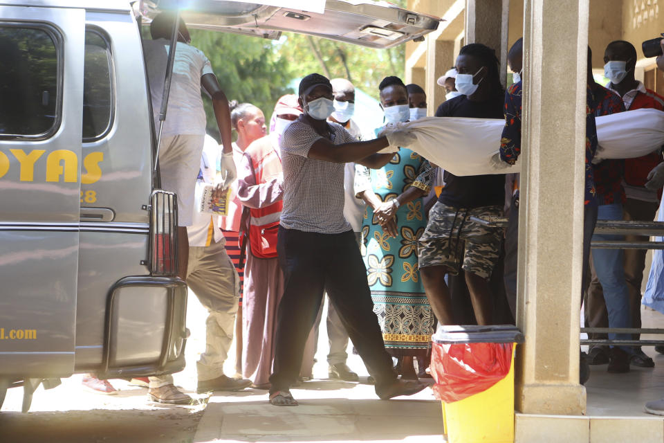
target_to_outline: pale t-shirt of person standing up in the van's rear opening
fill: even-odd
[[[167,39],[143,41],[156,131],[159,130],[168,47]],[[208,57],[194,46],[178,42],[163,136],[205,134],[205,109],[201,98],[201,77],[205,74],[214,74]]]

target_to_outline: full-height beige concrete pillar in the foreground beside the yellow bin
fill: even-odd
[[[578,415],[589,0],[526,0],[524,15],[515,402]]]

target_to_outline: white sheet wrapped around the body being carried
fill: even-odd
[[[636,109],[596,118],[597,159],[631,159],[664,145],[664,112]],[[412,129],[417,142],[409,146],[425,159],[454,175],[519,172],[519,162],[495,170],[490,159],[498,152],[504,120],[425,117],[398,123]]]

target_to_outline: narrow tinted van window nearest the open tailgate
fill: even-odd
[[[107,39],[96,30],[85,31],[83,70],[83,141],[103,138],[113,119],[111,49]]]

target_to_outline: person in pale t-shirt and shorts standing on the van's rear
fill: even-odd
[[[143,48],[149,78],[152,109],[155,117],[161,107],[167,53],[175,16],[172,12],[162,12],[150,24],[152,40],[145,40]],[[178,196],[178,277],[187,279],[189,262],[189,242],[187,226],[192,226],[194,211],[194,188],[199,173],[201,153],[205,141],[205,110],[201,98],[201,87],[212,97],[212,107],[216,117],[223,155],[221,174],[225,176],[226,188],[235,178],[231,148],[231,127],[228,100],[219,87],[212,72],[210,61],[205,55],[190,46],[189,31],[184,21],[178,24],[173,76],[169,93],[167,118],[163,124],[159,150],[159,168],[162,188],[176,192]],[[159,127],[158,121],[155,122]],[[189,396],[178,391],[172,377],[151,377],[149,396],[162,403],[185,403]]]

